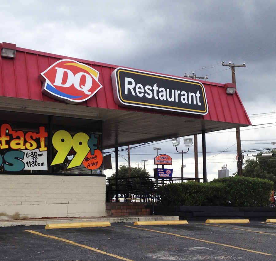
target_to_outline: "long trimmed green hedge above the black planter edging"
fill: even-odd
[[[267,206],[272,188],[271,181],[238,176],[172,183],[161,186],[159,195],[165,206]]]

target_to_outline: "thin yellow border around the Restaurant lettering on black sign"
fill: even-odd
[[[130,72],[130,73],[134,73],[134,74],[140,74],[140,75],[144,75],[144,76],[152,76],[152,77],[155,77],[155,78],[161,78],[161,79],[169,79],[169,80],[172,80],[172,81],[176,81],[176,82],[182,82],[182,83],[191,83],[191,84],[196,84],[196,85],[200,85],[201,86],[201,89],[202,89],[202,93],[204,94],[203,95],[203,99],[204,99],[204,105],[205,105],[205,110],[202,111],[202,110],[193,110],[193,109],[182,109],[182,108],[179,108],[179,107],[170,107],[170,106],[165,106],[165,105],[156,105],[156,104],[151,104],[151,103],[143,103],[143,102],[133,102],[133,101],[126,101],[122,98],[122,94],[121,94],[121,84],[120,84],[120,76],[119,76],[119,72],[120,71],[124,71],[124,72]],[[128,71],[128,70],[123,70],[123,69],[120,69],[117,71],[117,79],[118,79],[118,85],[119,85],[119,92],[120,92],[120,98],[122,101],[124,102],[130,102],[130,103],[136,103],[136,104],[143,104],[143,105],[148,105],[148,106],[159,106],[159,107],[164,107],[164,108],[170,108],[170,109],[178,109],[178,110],[186,110],[186,111],[194,111],[194,112],[201,112],[201,113],[205,113],[207,111],[207,106],[206,106],[206,101],[205,101],[205,91],[203,89],[203,86],[199,83],[193,83],[193,82],[188,82],[188,81],[185,81],[185,80],[178,80],[178,79],[174,79],[174,78],[169,78],[169,77],[162,77],[162,76],[158,76],[158,75],[151,75],[151,74],[146,74],[146,73],[140,73],[140,72],[134,72],[134,71]]]

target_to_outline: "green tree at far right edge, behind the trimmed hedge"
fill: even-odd
[[[275,150],[265,153],[275,153]],[[261,153],[257,154],[256,159],[246,159],[243,167],[243,176],[251,178],[262,178],[274,182],[274,190],[276,190],[276,157],[262,158]],[[234,175],[237,175],[235,173]]]

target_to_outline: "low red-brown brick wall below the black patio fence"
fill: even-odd
[[[150,209],[145,208],[144,202],[108,202],[105,205],[108,216],[150,215]]]

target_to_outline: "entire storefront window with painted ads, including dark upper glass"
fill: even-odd
[[[0,112],[0,172],[103,174],[101,121]]]

